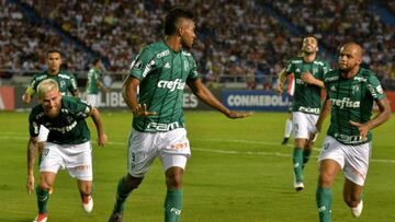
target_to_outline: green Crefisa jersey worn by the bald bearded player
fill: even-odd
[[[361,144],[372,140],[360,137],[351,121],[368,122],[372,116],[373,101],[385,98],[379,79],[370,70],[360,68],[352,79],[343,79],[339,70],[325,77],[327,100],[331,103],[331,118],[328,135],[345,144]]]

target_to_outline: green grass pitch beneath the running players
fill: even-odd
[[[316,156],[305,168],[306,189],[292,188],[292,145],[280,145],[286,114],[256,113],[230,120],[217,113],[187,113],[192,156],[184,175],[184,222],[311,222],[317,221]],[[119,178],[126,173],[125,141],[131,114],[103,113],[109,144],[94,144],[94,209],[82,212],[77,185],[67,172],[58,174],[49,199],[48,221],[106,221]],[[92,124],[90,122],[92,126]],[[358,220],[395,221],[395,120],[373,131],[373,155]],[[32,221],[35,195],[26,183],[27,113],[0,113],[0,221]],[[92,131],[93,136],[95,131]],[[324,139],[319,136],[317,147]],[[37,178],[36,178],[37,179]],[[342,202],[342,175],[334,186],[334,221],[357,221]],[[163,220],[165,176],[156,161],[140,188],[128,198],[124,221]]]

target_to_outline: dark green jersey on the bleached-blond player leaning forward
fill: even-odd
[[[90,140],[90,131],[84,118],[92,107],[80,98],[63,96],[59,115],[55,118],[45,116],[41,104],[36,105],[29,116],[31,137],[37,137],[40,126],[49,130],[48,142],[57,144],[79,144]]]

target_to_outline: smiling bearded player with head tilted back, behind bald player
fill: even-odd
[[[309,129],[318,119],[321,107],[320,93],[324,87],[324,74],[329,71],[329,65],[317,57],[318,42],[313,36],[303,39],[301,55],[291,59],[280,75],[276,92],[283,91],[286,75],[293,73],[295,92],[292,107],[292,122],[295,148],[293,151],[294,188],[304,189],[303,167],[308,162],[313,142],[308,140]]]

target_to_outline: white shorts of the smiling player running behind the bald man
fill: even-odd
[[[312,131],[313,128],[315,128],[318,117],[319,117],[318,115],[314,115],[314,114],[293,112],[292,124],[293,124],[294,138],[308,139],[309,132]]]

